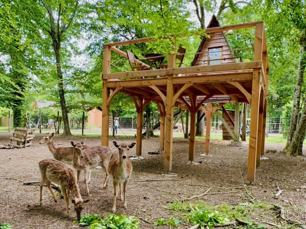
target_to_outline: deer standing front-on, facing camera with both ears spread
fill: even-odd
[[[124,143],[118,144],[117,141],[113,141],[113,144],[118,148],[118,153],[113,153],[110,158],[110,164],[109,164],[109,172],[111,176],[113,177],[113,185],[114,185],[114,202],[113,202],[113,210],[112,212],[116,212],[116,198],[117,198],[117,192],[118,192],[118,186],[120,188],[120,198],[121,201],[124,200],[124,208],[127,208],[126,205],[126,198],[125,198],[125,192],[126,192],[126,186],[128,184],[129,178],[132,174],[132,163],[129,159],[129,156],[127,155],[127,152],[130,148],[133,148],[136,142],[132,142],[131,144],[127,145]],[[122,198],[122,190],[121,190],[121,183],[123,183],[123,196]]]

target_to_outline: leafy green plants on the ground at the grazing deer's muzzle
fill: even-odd
[[[81,219],[75,220],[80,226],[89,226],[90,229],[138,229],[140,220],[134,216],[108,214],[107,217],[97,214],[85,214]]]

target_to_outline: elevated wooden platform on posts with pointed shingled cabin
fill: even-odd
[[[212,23],[216,21],[212,20]],[[248,152],[249,181],[255,180],[256,167],[259,166],[260,156],[264,150],[264,130],[267,106],[267,87],[269,79],[269,65],[263,21],[230,25],[206,29],[211,39],[202,40],[200,53],[195,56],[193,66],[176,68],[175,54],[168,54],[166,69],[151,69],[111,73],[111,52],[127,57],[125,51],[116,46],[151,42],[154,38],[147,37],[104,44],[103,53],[103,101],[102,101],[102,145],[108,146],[109,141],[109,106],[112,98],[118,92],[131,96],[137,111],[136,155],[142,150],[142,117],[148,103],[157,103],[161,116],[161,134],[159,145],[164,148],[164,169],[172,170],[172,137],[174,107],[188,110],[190,113],[190,137],[188,159],[195,156],[196,112],[202,109],[207,120],[225,103],[234,102],[235,110],[239,111],[239,103],[251,105],[250,140]],[[224,31],[255,27],[254,59],[251,62],[235,61]],[[213,39],[215,38],[215,39]],[[215,42],[212,42],[215,40]],[[218,44],[214,46],[213,44]],[[222,48],[220,63],[218,58],[211,58],[210,48]],[[228,49],[228,50],[227,50]],[[225,52],[226,51],[226,52]],[[224,59],[225,58],[225,59]],[[214,62],[211,60],[214,59]],[[206,64],[205,64],[206,60]],[[138,64],[144,64],[135,60]],[[209,62],[213,64],[209,64]],[[208,64],[207,64],[208,63]],[[220,98],[223,98],[220,100]],[[210,103],[207,103],[210,102]],[[202,104],[207,103],[207,107]],[[212,103],[216,106],[212,106]],[[245,106],[244,106],[245,107]],[[238,112],[239,113],[239,112]],[[218,116],[220,118],[220,116]],[[221,115],[222,118],[222,115]],[[235,118],[236,119],[236,118]],[[240,126],[235,125],[235,129]],[[205,151],[209,150],[209,129],[206,130]]]

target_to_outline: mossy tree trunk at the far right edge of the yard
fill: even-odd
[[[287,135],[287,144],[283,152],[290,155],[302,155],[303,141],[306,133],[306,99],[302,105],[303,112],[300,122],[298,123],[299,111],[301,109],[300,99],[302,93],[302,85],[304,84],[304,72],[306,67],[306,35],[305,30],[300,38],[300,56],[299,66],[297,71],[297,84],[294,90],[292,115],[290,118],[290,126]]]

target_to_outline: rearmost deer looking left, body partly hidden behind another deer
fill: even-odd
[[[48,145],[49,151],[52,153],[53,157],[58,160],[62,161],[66,164],[72,165],[73,160],[73,147],[58,147],[56,148],[53,144],[52,138],[54,133],[48,133],[43,139],[39,142],[39,144],[46,144]],[[82,145],[84,141],[80,142]],[[83,145],[84,149],[89,148],[87,145]],[[91,170],[88,173],[88,182],[91,180]]]

